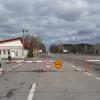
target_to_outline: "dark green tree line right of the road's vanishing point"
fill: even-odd
[[[91,54],[93,53],[94,46],[92,44],[51,44],[50,46],[51,53],[64,53],[64,50],[67,50],[66,53],[83,53]]]

